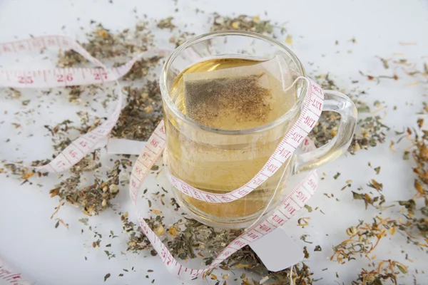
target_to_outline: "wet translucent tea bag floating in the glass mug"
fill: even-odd
[[[265,125],[287,112],[295,92],[282,56],[233,68],[185,73],[184,104],[198,123],[223,130],[244,130]]]

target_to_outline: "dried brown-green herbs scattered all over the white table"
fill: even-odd
[[[101,24],[91,24],[94,26],[94,30],[87,34],[86,41],[81,43],[81,45],[91,53],[92,56],[98,58],[98,60],[102,62],[111,63],[112,66],[119,66],[126,63],[126,61],[136,56],[136,54],[155,47],[151,26],[153,23],[150,21],[142,21],[132,30],[125,29],[116,33],[108,30]],[[193,33],[188,31],[179,30],[177,33],[177,27],[173,24],[173,17],[168,17],[155,24],[156,28],[168,29],[171,32],[174,31],[173,36],[170,37],[170,43],[173,43],[173,46],[178,46],[180,43],[183,43],[185,39],[193,36]],[[274,33],[275,31],[279,31],[281,34],[285,33],[285,28],[280,27],[278,24],[272,24],[268,20],[260,20],[259,16],[252,17],[240,15],[229,17],[221,16],[220,14],[213,15],[210,27],[211,31],[230,29],[255,31],[274,37],[277,35],[277,33]],[[285,41],[288,44],[292,43],[292,37],[288,35]],[[380,59],[386,69],[389,68],[391,63],[402,65],[407,63],[405,60],[390,62],[390,60]],[[126,87],[123,88],[123,91],[127,95],[126,106],[123,108],[118,123],[111,133],[113,137],[131,140],[147,140],[154,128],[156,128],[156,125],[160,122],[162,118],[162,103],[158,81],[155,79],[143,82],[142,80],[142,78],[150,77],[153,74],[155,74],[153,78],[156,78],[156,68],[160,63],[161,57],[158,56],[141,59],[131,68],[131,71],[123,77],[123,81],[126,82]],[[89,63],[84,58],[74,51],[62,51],[57,62],[58,67],[88,66],[88,64]],[[422,71],[408,71],[407,74],[409,76],[419,76],[419,78],[422,78],[422,81],[418,82],[428,82],[428,68],[426,64],[424,64]],[[399,79],[396,74],[392,74],[391,76],[372,76],[362,73],[362,76],[369,81]],[[340,90],[340,87],[336,85],[331,76],[316,75],[314,77],[322,85],[322,88]],[[65,88],[68,100],[71,103],[80,102],[81,95],[84,92],[95,94],[100,90],[102,90],[100,86],[75,86]],[[11,88],[10,91],[14,98],[20,97],[18,90]],[[104,92],[106,90],[102,91]],[[355,155],[358,150],[365,150],[385,142],[387,133],[389,132],[389,127],[382,123],[382,116],[372,115],[372,108],[363,100],[365,95],[364,90],[355,89],[350,91],[350,97],[355,101],[361,115],[358,121],[357,132],[348,150],[352,155]],[[114,97],[114,95],[110,95],[109,98]],[[104,102],[103,105],[106,107],[107,101]],[[380,103],[374,103],[375,107],[379,105]],[[427,105],[424,105],[423,113],[428,113]],[[64,120],[58,125],[45,126],[46,131],[51,135],[52,141],[54,142],[56,155],[71,142],[72,139],[69,138],[71,130],[76,131],[77,135],[87,133],[105,120],[105,118],[96,118],[84,112],[78,113],[78,116],[81,120],[78,123]],[[315,138],[317,146],[324,145],[335,137],[339,120],[340,115],[337,115],[337,113],[322,113],[320,121],[310,134],[312,138]],[[414,189],[416,191],[413,191],[412,197],[409,197],[408,200],[399,201],[397,203],[393,202],[391,205],[385,206],[384,204],[387,201],[382,194],[383,185],[376,180],[371,180],[368,184],[369,187],[376,190],[376,195],[361,191],[352,191],[352,197],[357,200],[363,200],[363,206],[366,208],[368,206],[375,207],[381,212],[391,207],[403,207],[403,209],[405,209],[402,213],[402,217],[399,219],[381,217],[382,215],[379,214],[373,217],[372,222],[360,221],[356,226],[346,229],[348,238],[333,247],[331,260],[337,261],[340,264],[350,262],[357,258],[366,258],[372,261],[370,269],[361,269],[360,273],[357,273],[357,276],[355,276],[356,279],[352,284],[374,285],[383,284],[382,282],[384,281],[391,281],[397,284],[397,274],[407,274],[407,266],[404,266],[404,264],[398,261],[384,260],[374,264],[372,260],[373,252],[377,245],[395,232],[402,232],[405,234],[407,241],[415,244],[417,247],[428,247],[428,131],[423,130],[423,125],[424,121],[419,119],[417,121],[418,128],[408,128],[403,133],[396,132],[397,135],[403,135],[403,138],[407,138],[411,143],[411,146],[404,152],[404,159],[412,157],[416,164],[413,169],[415,174]],[[396,143],[399,143],[399,141]],[[73,166],[68,174],[63,175],[63,177],[61,177],[62,181],[50,191],[51,197],[59,197],[60,201],[54,214],[58,212],[59,208],[63,206],[65,202],[80,207],[83,213],[88,216],[99,214],[104,209],[110,208],[113,205],[112,201],[120,192],[120,186],[127,185],[128,183],[126,175],[123,175],[123,173],[128,173],[131,170],[132,160],[127,156],[117,156],[117,159],[111,161],[113,166],[108,167],[106,170],[103,168],[103,165],[101,165],[100,152],[101,150],[97,149],[88,154],[83,160],[78,162],[77,165]],[[49,161],[50,159],[38,160],[33,162],[33,165],[44,165]],[[157,169],[153,170],[156,171]],[[377,167],[375,171],[379,173],[380,167]],[[19,176],[23,184],[30,182],[31,177],[47,175],[47,173],[31,172],[30,170],[11,164],[6,164],[4,168],[0,168],[0,173],[2,172],[6,173],[6,175]],[[338,173],[337,177],[339,175],[340,173]],[[83,179],[83,177],[85,177],[85,179]],[[90,177],[90,179],[87,179],[87,177]],[[335,177],[335,179],[337,177]],[[345,190],[346,187],[350,187],[351,182],[352,181],[349,183],[347,182],[347,186],[342,190]],[[146,191],[144,194],[146,194]],[[156,193],[156,195],[158,199],[161,199],[162,204],[165,205],[163,201],[165,195],[160,193]],[[148,200],[148,202],[149,206],[151,206],[151,201]],[[169,204],[165,205],[165,207],[173,207],[175,211],[179,209],[174,198],[171,198]],[[312,212],[311,207],[307,206],[306,209],[308,212]],[[185,217],[179,219],[175,224],[167,226],[164,224],[164,218],[159,210],[151,209],[151,211],[153,212],[153,216],[156,214],[156,217],[146,219],[146,222],[148,222],[149,226],[156,234],[163,238],[165,244],[168,244],[173,255],[183,260],[200,257],[203,259],[205,265],[208,265],[226,244],[230,243],[242,232],[242,230],[218,231]],[[52,217],[54,217],[54,214]],[[148,239],[144,236],[141,229],[138,228],[138,225],[128,219],[128,213],[120,213],[120,215],[123,231],[128,233],[127,251],[139,253],[143,250],[147,250],[151,252],[152,255],[156,255],[150,242],[148,242]],[[308,218],[300,219],[299,225],[305,227],[307,225],[307,219]],[[61,219],[57,219],[56,227],[58,227],[60,222],[68,227]],[[88,219],[81,219],[81,222],[87,224]],[[111,233],[111,235],[116,237],[113,233]],[[302,240],[305,241],[305,237],[302,237]],[[94,243],[93,247],[98,247],[99,239],[98,242]],[[321,250],[320,246],[315,247],[315,251]],[[114,254],[108,251],[106,251],[106,254],[109,259],[114,257]],[[305,247],[305,258],[308,257],[309,253]],[[258,280],[255,280],[250,279],[246,274],[242,274],[240,276],[240,282],[243,285],[290,284],[290,278],[292,279],[291,284],[302,285],[313,284],[315,282],[312,271],[304,263],[297,264],[293,266],[292,269],[285,269],[283,271],[267,271],[263,263],[250,247],[240,249],[240,251],[223,261],[218,267],[224,271],[230,272],[233,272],[235,269],[245,269],[245,271],[260,276]],[[236,277],[235,275],[233,275],[235,277],[232,277],[230,274],[222,274],[222,277],[219,278],[213,272],[207,275],[207,278],[216,280],[216,285],[226,285],[228,279]],[[123,274],[119,276],[123,276]],[[111,277],[111,274],[106,274],[106,276],[104,276],[104,281],[109,277]],[[237,279],[235,278],[235,280]]]

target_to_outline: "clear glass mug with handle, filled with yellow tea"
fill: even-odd
[[[244,124],[245,128],[238,128],[240,125],[236,122],[231,122],[230,128],[218,128],[214,123],[210,125],[203,120],[196,120],[200,115],[192,117],[185,108],[183,74],[213,71],[220,64],[223,64],[220,68],[233,68],[237,62],[240,66],[247,63],[251,65],[277,56],[287,63],[292,71],[292,79],[305,76],[302,63],[289,48],[257,33],[207,33],[175,49],[165,62],[160,81],[168,147],[168,157],[164,159],[173,176],[199,190],[224,194],[250,181],[265,165],[302,112],[307,83],[297,81],[290,91],[284,93],[287,102],[292,100],[292,103],[280,109],[282,113],[277,118],[266,120],[265,123]],[[208,89],[205,91],[208,92]],[[201,95],[205,91],[202,89]],[[324,95],[322,110],[335,111],[341,115],[337,135],[330,142],[312,152],[295,152],[275,175],[249,195],[233,202],[204,202],[174,188],[180,206],[198,221],[223,228],[247,227],[263,212],[269,214],[290,190],[287,185],[292,175],[337,159],[350,145],[357,120],[354,103],[337,91],[324,90]],[[274,98],[266,110],[272,111],[278,105],[285,106],[282,99]],[[215,122],[227,124],[228,119],[224,115],[211,115],[209,103],[205,105],[206,117],[215,117]],[[260,106],[265,107],[265,103]],[[198,114],[204,115],[204,109],[199,110]],[[239,122],[240,118],[236,120]]]

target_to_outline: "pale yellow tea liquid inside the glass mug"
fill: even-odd
[[[262,62],[242,58],[196,63],[178,75],[170,96],[183,114],[203,126],[219,130],[258,128],[280,118],[296,100],[295,89],[283,92],[282,82],[269,72],[259,72],[260,68],[255,66],[258,63]],[[226,70],[241,66],[247,67],[243,73]],[[248,72],[252,66],[255,73]],[[218,74],[223,73],[207,73],[220,70],[226,76],[219,78]],[[183,125],[165,110],[169,170],[200,190],[230,192],[248,182],[265,165],[291,124],[250,135],[225,135]],[[287,164],[250,195],[235,202],[213,204],[182,194],[180,199],[200,217],[248,217],[264,209],[285,172],[275,197],[280,196],[290,173]]]

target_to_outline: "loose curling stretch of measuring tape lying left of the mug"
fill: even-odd
[[[118,83],[118,78],[128,73],[133,63],[141,58],[168,54],[167,50],[156,49],[141,53],[128,63],[118,66],[117,68],[107,68],[72,38],[66,36],[41,36],[21,41],[0,43],[0,56],[4,53],[39,51],[41,48],[72,49],[96,66],[101,66],[101,68],[53,68],[34,71],[0,68],[0,87],[52,88],[58,86],[97,84],[109,81],[116,81],[118,84],[118,103],[113,113],[106,121],[97,128],[91,130],[91,132],[73,140],[70,145],[47,165],[39,167],[26,166],[41,172],[63,172],[85,157],[99,141],[111,132],[118,121],[123,102],[123,93]]]

